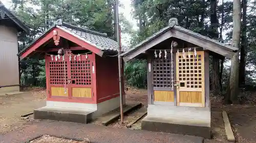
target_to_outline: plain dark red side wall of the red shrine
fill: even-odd
[[[96,55],[97,103],[119,96],[118,58]],[[124,91],[124,90],[123,90]],[[123,92],[124,93],[124,92]]]

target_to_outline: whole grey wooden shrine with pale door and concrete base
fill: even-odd
[[[238,48],[169,25],[121,54],[147,59],[147,116],[142,130],[210,138],[209,54],[228,59]]]

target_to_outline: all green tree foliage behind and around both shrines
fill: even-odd
[[[23,49],[44,33],[57,19],[107,33],[109,37],[115,39],[114,2],[115,0],[12,0],[11,9],[30,27],[30,32],[27,35],[19,33],[19,49]],[[256,37],[256,31],[254,25],[256,24],[256,8],[253,5],[254,1],[250,3],[252,5],[247,9],[246,83],[255,85],[256,40],[254,37]],[[210,4],[211,1],[208,0],[133,0],[132,14],[138,22],[139,31],[133,32],[130,21],[127,21],[123,14],[119,14],[122,33],[131,34],[130,44],[133,46],[167,26],[169,18],[176,17],[180,26],[210,36],[212,32],[212,25],[209,21]],[[222,34],[224,38],[220,36],[218,39],[231,43],[231,1],[225,1],[217,6],[217,17],[219,23],[215,26],[219,32],[224,33]],[[127,84],[143,87],[146,84],[145,67],[145,61],[126,63]],[[224,66],[223,84],[227,83],[228,68],[228,66]],[[44,61],[39,61],[36,58],[25,59],[20,63],[20,71],[23,84],[45,86]]]

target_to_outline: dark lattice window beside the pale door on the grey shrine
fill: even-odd
[[[153,61],[153,85],[154,88],[173,88],[174,72],[172,71],[173,60],[170,56],[165,59],[156,58]]]

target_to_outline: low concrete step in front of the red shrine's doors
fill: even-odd
[[[34,110],[34,119],[47,119],[87,124],[92,120],[93,112],[90,109],[75,109],[64,107],[41,107]]]

